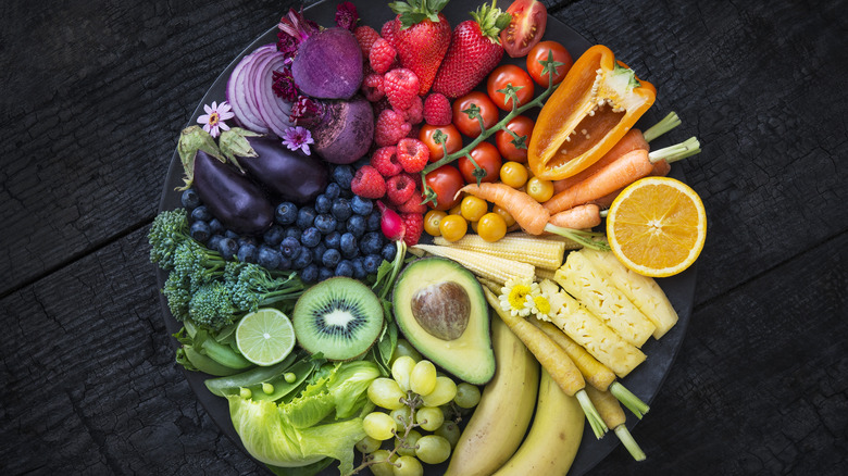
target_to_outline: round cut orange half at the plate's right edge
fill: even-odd
[[[695,263],[707,239],[698,193],[669,177],[646,177],[610,205],[607,239],[625,266],[645,276],[672,276]]]

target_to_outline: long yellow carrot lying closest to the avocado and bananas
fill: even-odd
[[[524,342],[527,350],[539,361],[539,364],[548,372],[548,375],[557,383],[557,386],[560,387],[563,393],[577,398],[583,413],[586,414],[586,419],[589,421],[589,425],[595,431],[595,436],[600,439],[608,428],[595,405],[591,404],[591,400],[589,400],[589,396],[586,393],[586,380],[574,364],[574,361],[544,331],[536,328],[525,318],[504,311],[500,306],[498,297],[488,288],[484,287],[483,292],[486,295],[486,301],[500,316],[501,321],[515,334],[515,337]]]

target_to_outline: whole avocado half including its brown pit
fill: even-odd
[[[426,359],[469,384],[495,375],[489,308],[474,275],[444,258],[408,264],[392,293],[395,320]]]

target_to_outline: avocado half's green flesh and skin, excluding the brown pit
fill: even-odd
[[[412,312],[417,291],[445,281],[461,286],[471,304],[465,330],[451,340],[428,333]],[[391,300],[398,328],[425,359],[469,384],[483,385],[495,376],[489,308],[483,288],[470,271],[445,258],[415,260],[398,276]]]

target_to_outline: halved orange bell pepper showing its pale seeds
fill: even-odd
[[[596,45],[571,67],[539,112],[527,162],[539,178],[570,177],[603,156],[657,97],[609,48]]]

